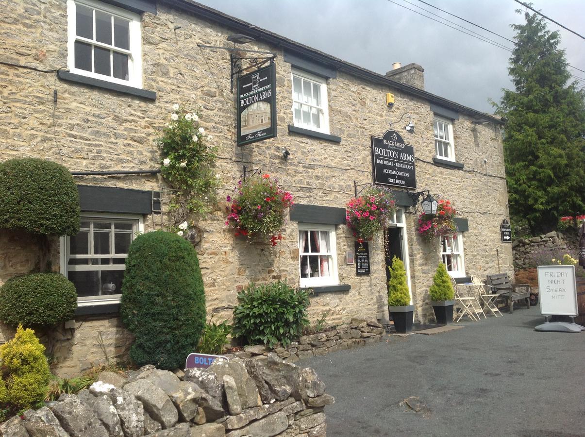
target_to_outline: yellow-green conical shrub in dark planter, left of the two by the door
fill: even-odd
[[[388,312],[394,321],[397,333],[412,332],[414,305],[410,304],[410,293],[406,281],[404,263],[398,257],[392,259],[390,280],[388,281]]]

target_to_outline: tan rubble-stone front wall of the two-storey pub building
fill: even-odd
[[[390,120],[396,122],[408,112],[416,130],[412,135],[405,133],[405,139],[416,152],[418,189],[449,198],[459,215],[469,221],[469,231],[463,234],[467,273],[484,276],[497,271],[498,266],[502,271],[512,269],[510,245],[500,242],[499,233],[499,224],[508,212],[498,126],[473,123],[474,116],[460,112],[453,134],[456,160],[464,168],[438,166],[433,163],[433,113],[428,101],[339,70],[336,78],[327,81],[327,87],[331,134],[342,141],[332,143],[289,133],[287,126],[293,124],[291,64],[284,62],[281,47],[259,40],[247,44],[246,49],[277,54],[278,137],[237,147],[229,53],[197,46],[223,46],[233,29],[182,11],[172,2],[159,1],[157,6],[157,15],[142,16],[143,87],[156,91],[156,101],[61,81],[55,73],[0,65],[0,160],[43,157],[72,171],[158,168],[156,138],[171,106],[180,103],[198,109],[201,125],[214,136],[219,149],[216,171],[221,181],[220,198],[232,194],[246,165],[276,176],[297,204],[343,208],[353,197],[354,180],[359,184],[371,181],[370,136],[383,135]],[[0,10],[0,23],[4,41],[0,60],[44,71],[67,67],[65,0],[8,2]],[[54,91],[57,102],[53,101]],[[386,106],[387,92],[395,95],[393,111]],[[287,160],[281,154],[283,147],[291,153]],[[78,184],[161,190],[167,201],[170,195],[159,176],[79,176],[75,180]],[[251,245],[225,228],[226,206],[226,202],[219,202],[211,214],[197,222],[203,235],[196,249],[208,316],[220,321],[231,318],[238,291],[250,281],[281,278],[297,285],[300,277],[296,222],[287,223],[278,246]],[[424,243],[415,230],[416,216],[406,217],[415,318],[425,321],[432,318],[428,287],[441,261],[439,244]],[[144,217],[144,222],[146,230],[161,226],[159,217],[156,221]],[[349,323],[355,317],[383,318],[387,315],[387,291],[381,236],[370,243],[371,274],[367,276],[356,276],[355,266],[345,264],[345,253],[353,249],[354,239],[344,225],[337,226],[336,240],[339,283],[351,288],[312,296],[309,317],[316,319],[329,311],[327,322],[331,324]],[[0,260],[7,250],[0,246]],[[0,272],[0,277],[4,275]],[[94,331],[87,331],[90,338],[81,339],[81,333],[75,333],[77,341],[95,344],[95,332],[110,329],[105,319],[93,323]],[[73,353],[58,360],[65,367],[80,369],[84,366],[68,362],[78,360],[78,356]]]

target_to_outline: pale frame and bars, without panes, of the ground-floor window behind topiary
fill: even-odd
[[[81,212],[81,221],[90,220],[90,221],[128,221],[133,223],[132,229],[132,239],[130,240],[130,244],[136,238],[136,235],[139,233],[144,232],[144,217],[142,215],[137,214],[114,214],[114,213],[101,213],[101,212]],[[68,272],[73,271],[73,269],[68,269],[68,262],[70,259],[70,237],[69,236],[62,236],[59,239],[59,253],[60,253],[60,273],[63,276],[68,277]],[[122,258],[122,254],[118,254],[116,258]],[[124,259],[128,256],[128,254],[123,254]],[[95,259],[98,259],[99,256],[95,256]],[[105,257],[105,256],[102,256]],[[112,256],[113,257],[113,256]],[[88,256],[91,258],[91,256]],[[116,266],[113,269],[104,269],[103,267],[109,266]],[[96,267],[101,267],[101,269],[87,269],[87,270],[126,270],[125,264],[106,264],[106,265],[97,265]],[[87,307],[90,305],[106,305],[106,304],[117,304],[120,302],[122,295],[121,294],[112,294],[112,295],[93,295],[93,296],[78,296],[77,297],[77,306],[78,307]]]

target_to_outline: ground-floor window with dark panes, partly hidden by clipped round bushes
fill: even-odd
[[[128,249],[142,230],[138,217],[82,215],[77,235],[61,238],[61,273],[80,304],[119,300]]]

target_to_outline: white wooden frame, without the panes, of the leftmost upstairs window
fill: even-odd
[[[105,44],[101,42],[90,40],[88,38],[77,36],[75,20],[76,20],[76,8],[77,5],[85,6],[111,14],[124,20],[129,20],[129,50],[121,49],[120,47],[113,46],[112,44]],[[94,33],[95,33],[95,12],[94,12]],[[79,41],[82,43],[91,44],[92,54],[93,47],[100,47],[107,50],[116,51],[118,53],[126,54],[129,57],[128,63],[128,80],[113,77],[113,75],[106,76],[104,74],[94,73],[94,71],[82,70],[81,68],[75,68],[75,42]],[[92,70],[94,68],[94,57],[92,56]],[[133,88],[142,88],[142,18],[139,14],[126,9],[118,8],[99,2],[97,0],[67,0],[67,67],[70,73],[79,74],[85,77],[91,77],[97,80],[103,80],[106,82],[112,82],[114,84],[126,85]],[[110,68],[113,68],[113,62],[111,62]],[[113,71],[113,70],[111,70]]]

